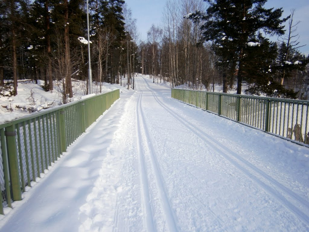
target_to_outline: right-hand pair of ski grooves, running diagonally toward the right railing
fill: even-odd
[[[196,133],[197,136],[205,142],[205,144],[212,149],[214,149],[218,154],[220,154],[222,157],[224,157],[227,161],[229,161],[232,165],[234,165],[237,169],[239,169],[241,172],[243,172],[245,175],[247,175],[249,178],[251,178],[255,183],[257,183],[260,187],[262,187],[266,192],[273,195],[275,199],[277,199],[283,206],[285,206],[287,209],[290,210],[295,216],[297,216],[299,219],[301,219],[305,224],[309,224],[309,217],[306,213],[304,213],[301,209],[295,206],[297,201],[300,203],[300,205],[305,206],[303,210],[309,211],[309,203],[307,200],[303,199],[298,194],[294,193],[281,183],[277,182],[275,179],[273,179],[271,176],[254,166],[252,163],[246,161],[239,155],[237,155],[235,152],[231,151],[227,147],[222,147],[222,143],[215,140],[213,137],[210,137],[209,135],[205,134],[205,132],[201,131],[199,128],[191,124],[190,122],[186,121],[182,116],[179,114],[173,112],[169,109],[168,106],[166,106],[162,101],[159,100],[159,98],[156,96],[155,92],[150,89],[149,83],[145,80],[143,80],[143,83],[147,90],[149,90],[153,97],[155,98],[156,102],[161,105],[161,107],[167,111],[171,116],[173,116],[176,120],[178,120],[180,123],[182,123],[185,127],[187,127],[190,131],[193,133]],[[146,86],[147,84],[147,86]],[[254,174],[255,173],[255,174]],[[264,179],[268,184],[266,184],[262,179],[260,179],[256,174],[258,174],[261,178]],[[271,186],[270,186],[271,185]],[[289,197],[290,199],[294,199],[294,204],[290,202],[281,192],[284,192],[284,194]]]

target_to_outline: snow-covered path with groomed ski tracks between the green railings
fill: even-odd
[[[135,86],[0,231],[309,230],[308,148]]]

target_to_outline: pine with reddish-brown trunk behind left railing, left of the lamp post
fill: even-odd
[[[64,0],[53,4],[51,13],[54,22],[54,31],[52,40],[57,45],[58,74],[64,80],[63,100],[66,102],[66,94],[73,97],[72,75],[78,73],[80,68],[80,42],[78,37],[85,33],[87,26],[85,12],[83,11],[84,2],[81,0]],[[64,54],[64,55],[63,55]],[[74,58],[74,59],[72,59]],[[60,62],[61,61],[61,62]]]

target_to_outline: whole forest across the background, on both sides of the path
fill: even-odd
[[[167,0],[161,25],[140,39],[123,0],[2,0],[0,2],[0,95],[18,94],[18,80],[56,83],[65,104],[72,81],[101,92],[102,82],[134,89],[134,73],[171,88],[309,99],[309,56],[299,51],[298,21],[265,0]],[[288,27],[283,24],[288,22]],[[276,37],[271,41],[269,37]],[[89,64],[91,64],[89,66]]]

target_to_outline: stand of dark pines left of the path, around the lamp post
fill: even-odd
[[[131,58],[136,43],[127,41],[136,36],[136,21],[123,0],[89,0],[89,14],[91,85],[101,92],[103,81],[119,83],[128,73],[127,49]],[[72,80],[85,80],[88,86],[86,15],[81,0],[1,1],[1,88],[17,95],[18,79],[40,79],[44,89],[53,91],[57,81],[66,103],[74,94]],[[11,80],[12,88],[5,80]]]

